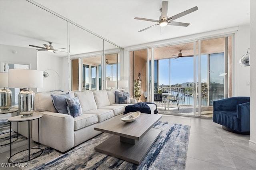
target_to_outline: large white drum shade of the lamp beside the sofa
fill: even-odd
[[[43,87],[43,71],[31,69],[9,69],[9,87]]]

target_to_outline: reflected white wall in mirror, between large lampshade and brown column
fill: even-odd
[[[50,53],[49,51],[38,52],[38,70],[46,71],[49,74],[48,77],[43,78],[44,87],[38,88],[38,91],[66,91],[63,86],[63,77],[66,77],[67,74],[64,74],[63,70],[67,67],[63,65],[62,57],[55,57]]]

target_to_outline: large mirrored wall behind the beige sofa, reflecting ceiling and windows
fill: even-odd
[[[100,90],[107,77],[120,79],[121,47],[33,3],[0,2],[0,72],[17,64],[48,72],[44,87],[34,91]]]

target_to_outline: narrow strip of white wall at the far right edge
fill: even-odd
[[[250,1],[250,140],[249,146],[256,150],[256,1]]]

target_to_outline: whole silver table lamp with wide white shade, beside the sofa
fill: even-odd
[[[19,93],[19,113],[30,117],[34,112],[35,93],[30,88],[43,87],[43,71],[9,69],[9,87],[24,88]]]

